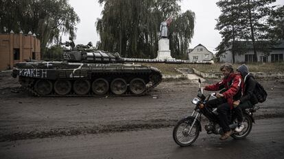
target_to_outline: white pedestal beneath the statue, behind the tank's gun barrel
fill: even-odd
[[[169,40],[161,38],[158,40],[158,56],[156,59],[174,59],[171,57],[171,50],[169,50]]]

